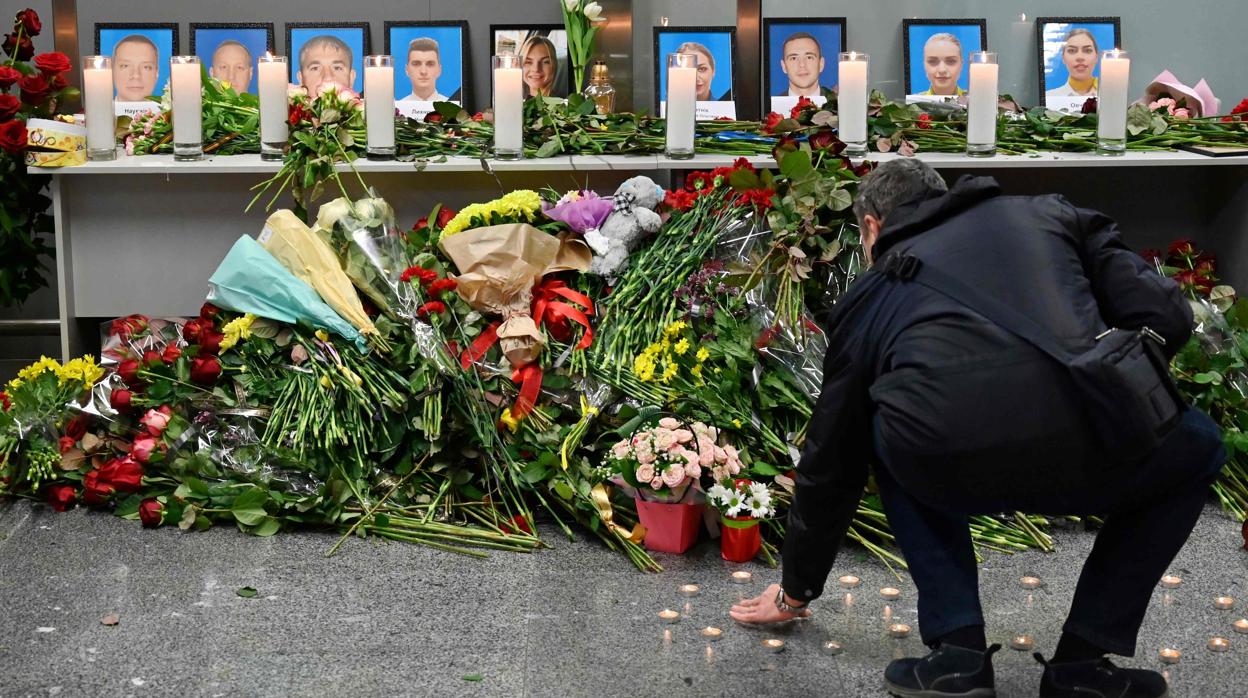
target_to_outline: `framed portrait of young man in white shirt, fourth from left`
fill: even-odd
[[[394,56],[394,105],[404,116],[468,101],[467,21],[387,21],[386,52]]]

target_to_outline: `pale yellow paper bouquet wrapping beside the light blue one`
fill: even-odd
[[[321,298],[343,320],[364,335],[377,333],[354,286],[342,271],[338,256],[292,211],[282,209],[270,216],[258,242],[291,273],[316,288]]]

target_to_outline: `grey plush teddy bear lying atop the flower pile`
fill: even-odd
[[[615,190],[614,210],[602,227],[585,232],[594,251],[589,273],[615,276],[628,266],[629,251],[645,233],[658,232],[663,219],[654,212],[663,202],[663,187],[650,177],[633,177]]]

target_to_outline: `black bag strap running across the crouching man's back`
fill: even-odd
[[[1012,307],[980,293],[958,278],[925,263],[909,252],[892,252],[881,260],[880,271],[901,281],[914,281],[932,291],[948,296],[963,306],[978,312],[1001,328],[1027,341],[1040,351],[1053,357],[1058,363],[1070,366],[1072,355],[1061,346],[1051,332],[1042,328],[1030,317]]]

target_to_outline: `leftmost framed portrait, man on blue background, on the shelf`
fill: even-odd
[[[177,24],[97,22],[95,52],[112,56],[112,84],[119,116],[135,116],[157,107],[168,84],[168,59],[178,52]]]

